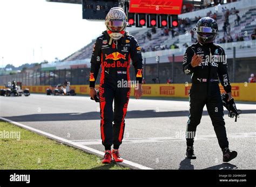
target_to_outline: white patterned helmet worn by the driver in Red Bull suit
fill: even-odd
[[[125,34],[127,17],[122,8],[113,7],[106,15],[105,25],[107,34],[114,39],[119,40]]]

